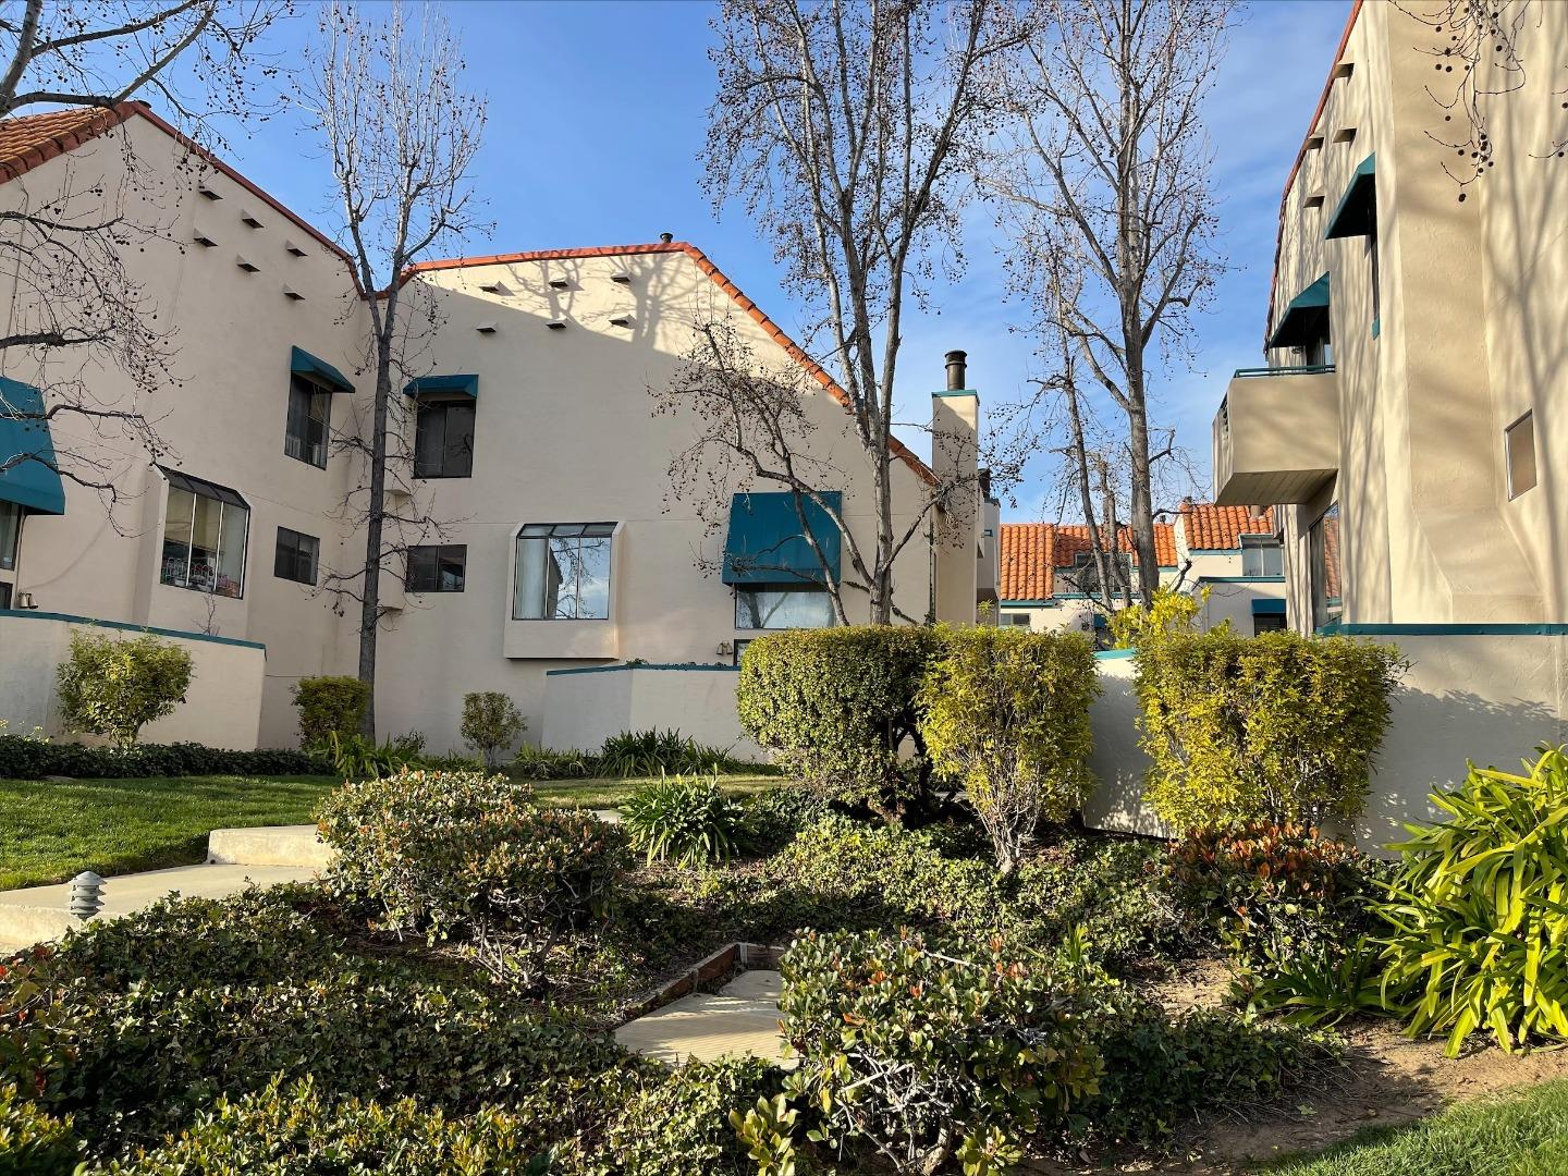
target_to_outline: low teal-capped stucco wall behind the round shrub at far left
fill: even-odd
[[[254,641],[168,629],[143,630],[113,621],[64,613],[0,612],[0,718],[11,734],[42,728],[52,739],[67,735],[55,698],[55,668],[71,654],[75,629],[107,629],[136,635],[154,632],[191,655],[187,701],[168,718],[141,729],[144,743],[204,743],[252,751],[262,718],[267,651]]]

